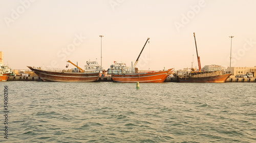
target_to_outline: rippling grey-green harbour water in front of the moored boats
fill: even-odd
[[[0,142],[256,142],[255,83],[0,84]]]

